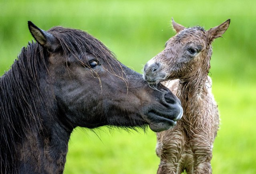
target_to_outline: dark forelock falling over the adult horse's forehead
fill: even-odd
[[[48,32],[58,40],[63,56],[66,58],[72,54],[81,65],[90,68],[88,66],[87,56],[91,54],[96,59],[101,59],[106,63],[107,67],[105,67],[105,70],[123,79],[125,83],[128,83],[122,65],[117,60],[115,54],[100,40],[91,36],[91,34],[82,30],[64,28],[62,26],[53,27]],[[93,69],[91,70],[94,71]],[[95,73],[97,74],[97,72]],[[99,78],[98,75],[97,77]]]

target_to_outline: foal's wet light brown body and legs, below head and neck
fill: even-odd
[[[208,79],[206,86],[211,86]],[[212,144],[219,124],[217,104],[211,88],[204,97],[195,95],[190,100],[179,83],[164,82],[181,100],[184,113],[175,128],[157,134],[156,152],[161,158],[158,173],[211,173]]]

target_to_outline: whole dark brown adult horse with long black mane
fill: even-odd
[[[77,126],[159,132],[181,117],[176,96],[149,88],[88,33],[28,27],[37,42],[0,77],[0,173],[62,173]]]

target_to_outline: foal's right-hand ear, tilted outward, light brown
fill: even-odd
[[[211,28],[210,30],[206,31],[206,34],[210,41],[212,42],[214,39],[222,37],[222,34],[226,32],[230,24],[230,19],[226,20],[219,26],[216,26],[214,28]]]

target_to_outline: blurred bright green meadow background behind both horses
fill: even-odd
[[[31,20],[85,30],[106,44],[125,65],[141,72],[183,26],[209,29],[231,18],[224,38],[213,43],[210,75],[221,125],[214,142],[214,174],[256,173],[255,0],[0,0],[0,75],[32,40]],[[153,174],[155,134],[77,128],[69,142],[66,174]]]

